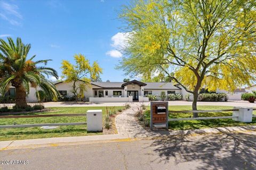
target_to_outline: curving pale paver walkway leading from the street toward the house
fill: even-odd
[[[133,105],[121,114],[116,116],[115,124],[118,134],[137,135],[137,137],[145,137],[147,131],[139,124],[134,114],[140,107],[140,104]]]

